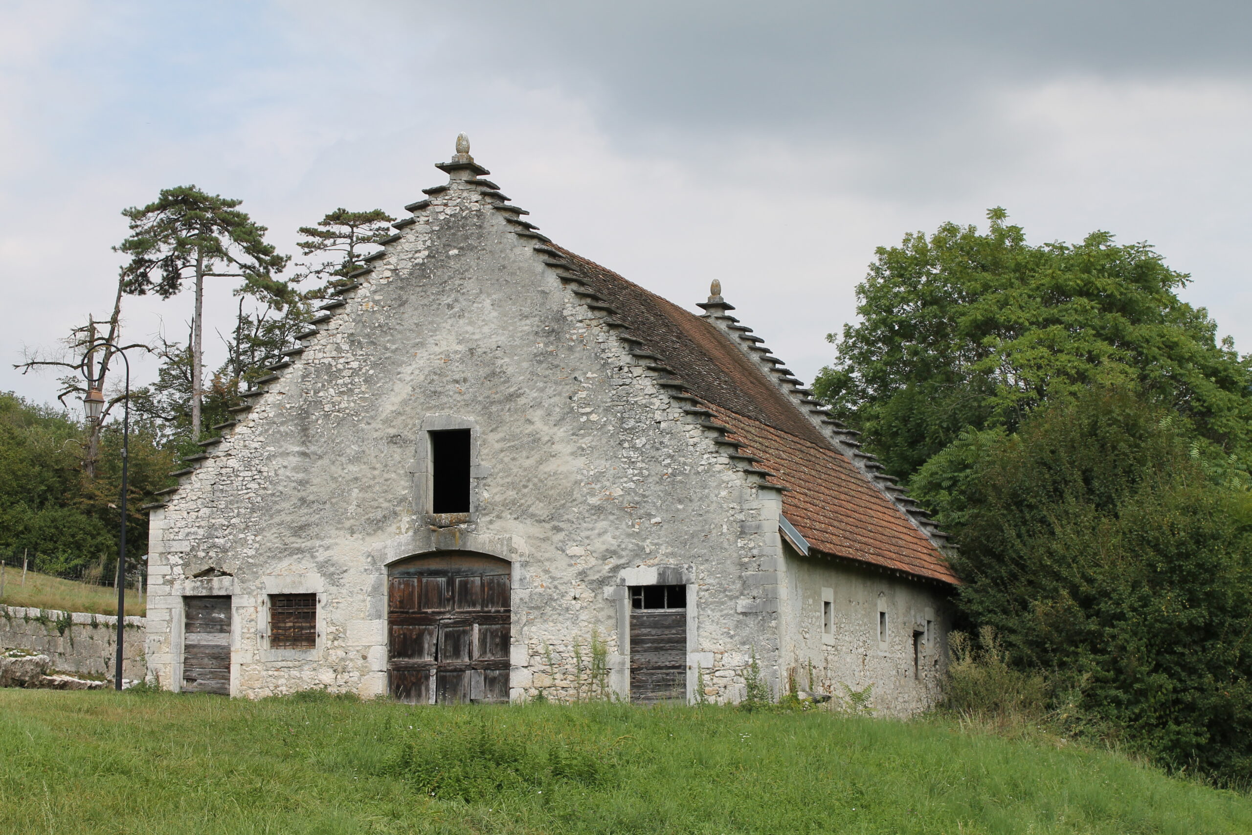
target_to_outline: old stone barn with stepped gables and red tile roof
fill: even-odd
[[[930,705],[943,536],[715,285],[537,232],[468,143],[150,507],[159,686]]]

